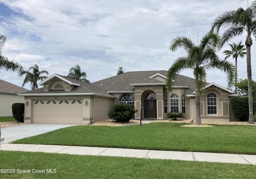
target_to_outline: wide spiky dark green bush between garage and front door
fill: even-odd
[[[108,117],[115,122],[129,122],[138,110],[134,109],[132,104],[115,104],[110,111],[108,111]]]

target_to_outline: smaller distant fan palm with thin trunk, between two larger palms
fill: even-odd
[[[231,50],[224,50],[223,53],[224,55],[226,55],[226,57],[224,58],[224,60],[228,59],[230,56],[233,57],[233,59],[235,59],[235,67],[236,67],[236,81],[235,81],[235,92],[237,91],[237,58],[241,57],[243,58],[244,55],[246,54],[245,50],[246,48],[244,48],[244,45],[241,45],[242,41],[240,41],[238,44],[233,43],[233,44],[228,44],[231,47]]]

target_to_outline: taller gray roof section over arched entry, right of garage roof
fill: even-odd
[[[116,75],[107,79],[92,83],[98,88],[104,89],[107,92],[130,92],[134,91],[134,85],[164,85],[163,81],[154,79],[156,76],[166,78],[167,71],[132,71]],[[208,85],[207,83],[206,85]],[[188,87],[187,93],[193,94],[195,90],[195,79],[183,75],[177,75],[175,87]]]

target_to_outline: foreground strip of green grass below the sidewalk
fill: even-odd
[[[254,179],[256,171],[256,165],[21,151],[1,151],[0,168],[16,171],[1,173],[4,179]]]

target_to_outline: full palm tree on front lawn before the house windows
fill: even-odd
[[[234,83],[235,68],[232,63],[226,60],[220,60],[216,55],[216,48],[220,43],[220,36],[216,33],[206,33],[199,45],[192,42],[191,39],[181,36],[176,37],[171,43],[169,49],[176,51],[179,48],[184,48],[188,55],[186,57],[178,57],[167,73],[166,89],[172,90],[174,79],[180,71],[192,69],[195,78],[196,87],[196,124],[201,125],[200,116],[200,94],[203,94],[206,86],[206,70],[220,69],[227,74],[228,87]]]

